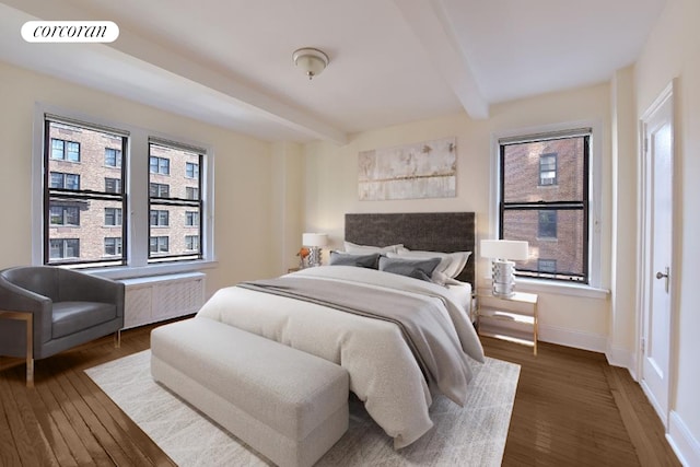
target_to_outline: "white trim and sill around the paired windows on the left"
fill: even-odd
[[[32,145],[32,264],[43,265],[43,236],[44,236],[44,118],[46,114],[59,115],[65,118],[84,121],[86,124],[101,125],[110,128],[119,128],[129,132],[129,145],[127,153],[122,153],[122,161],[127,161],[127,186],[122,186],[128,192],[128,210],[130,213],[128,224],[128,264],[117,267],[105,267],[85,269],[85,272],[112,279],[126,279],[142,276],[160,276],[178,272],[198,271],[200,269],[213,268],[217,266],[214,256],[214,151],[210,144],[199,141],[191,141],[186,138],[173,137],[159,131],[136,127],[133,125],[115,122],[104,118],[84,115],[74,110],[51,106],[49,104],[36,103],[34,105],[34,128]],[[149,237],[150,212],[149,212],[149,137],[163,140],[179,141],[191,147],[199,147],[207,151],[205,157],[205,178],[200,196],[203,201],[202,219],[206,221],[202,232],[205,250],[202,259],[189,261],[167,261],[149,264],[149,242],[142,238]],[[135,161],[133,154],[145,157],[142,161]],[[124,162],[122,162],[124,163]],[[200,167],[202,168],[202,167]],[[126,215],[122,213],[122,215]],[[200,222],[201,220],[200,219]],[[200,240],[201,241],[201,240]]]

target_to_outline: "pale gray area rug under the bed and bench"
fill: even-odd
[[[150,350],[85,373],[177,465],[267,466],[265,457],[155,383]],[[503,457],[520,365],[487,359],[478,365],[465,407],[438,396],[434,427],[408,447],[393,441],[350,398],[350,428],[317,466],[499,466]]]

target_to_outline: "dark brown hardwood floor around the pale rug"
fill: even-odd
[[[0,466],[174,465],[84,369],[149,348],[150,327],[36,362],[0,358]],[[598,353],[540,343],[539,355],[485,338],[489,357],[522,365],[504,466],[678,466],[627,370]]]

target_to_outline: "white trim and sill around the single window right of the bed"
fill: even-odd
[[[602,284],[602,185],[603,185],[603,124],[598,120],[579,120],[563,124],[504,130],[493,133],[491,140],[491,189],[489,194],[489,231],[483,238],[495,238],[499,232],[499,180],[500,180],[500,143],[503,138],[549,133],[556,131],[591,128],[591,154],[588,164],[588,267],[590,283],[575,284],[546,279],[518,278],[518,289],[527,292],[556,293],[562,295],[593,296],[604,299],[609,291]]]

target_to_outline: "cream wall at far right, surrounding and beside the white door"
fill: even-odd
[[[675,90],[676,186],[678,195],[672,311],[675,371],[672,373],[669,437],[687,465],[700,465],[700,2],[668,0],[637,63],[637,115],[641,117],[663,89],[677,78]]]

